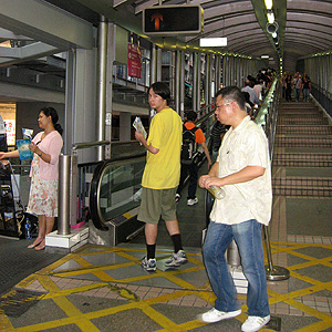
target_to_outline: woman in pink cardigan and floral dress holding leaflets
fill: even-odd
[[[45,236],[53,230],[58,217],[59,156],[63,146],[62,127],[53,107],[41,108],[38,133],[29,145],[33,152],[30,195],[27,212],[38,215],[38,238],[29,249],[45,248]],[[0,153],[0,159],[19,157],[19,151]]]

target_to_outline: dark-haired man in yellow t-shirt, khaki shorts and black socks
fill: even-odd
[[[170,91],[167,85],[162,82],[152,84],[148,102],[157,114],[152,120],[147,141],[143,133],[135,132],[135,138],[147,149],[142,178],[142,203],[137,217],[146,222],[147,255],[142,259],[142,267],[147,271],[156,270],[155,251],[160,217],[165,220],[174,242],[174,253],[165,264],[177,267],[187,261],[181,247],[174,200],[180,175],[183,123],[180,116],[168,106],[169,97]]]

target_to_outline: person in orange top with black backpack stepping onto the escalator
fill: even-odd
[[[184,132],[191,132],[193,133],[193,139],[195,144],[194,151],[197,152],[197,145],[200,144],[203,147],[203,151],[206,155],[206,158],[208,160],[208,168],[211,166],[211,158],[209,151],[206,145],[206,138],[200,128],[197,128],[195,123],[197,121],[197,113],[194,111],[189,111],[186,114],[187,122],[184,124]],[[194,132],[195,131],[195,132]],[[180,170],[180,180],[179,185],[176,190],[175,200],[178,201],[180,199],[180,193],[185,185],[185,179],[187,175],[189,174],[189,185],[188,185],[188,196],[187,196],[187,205],[193,206],[198,203],[198,198],[196,197],[196,190],[197,190],[197,180],[198,180],[198,165],[196,162],[196,158],[194,157],[190,160],[181,160],[181,170]]]

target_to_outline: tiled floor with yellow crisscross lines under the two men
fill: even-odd
[[[287,176],[282,167],[277,172]],[[234,320],[207,325],[196,318],[215,301],[201,258],[200,230],[205,221],[203,195],[199,195],[200,204],[194,208],[180,206],[181,222],[187,218],[193,224],[193,216],[197,215],[196,225],[199,225],[191,239],[197,246],[185,248],[186,264],[176,269],[165,267],[164,261],[172,253],[165,234],[160,235],[162,242],[157,248],[158,269],[153,273],[141,268],[141,258],[145,253],[141,239],[115,248],[86,245],[17,284],[15,290],[40,293],[39,301],[20,317],[6,314],[4,294],[0,302],[0,330],[239,331],[247,318],[246,294],[238,295],[243,313]],[[321,235],[290,229],[292,215],[288,210],[288,196],[274,196],[269,227],[273,266],[290,272],[288,280],[268,281],[271,314],[281,319],[280,331],[332,331],[330,229]],[[315,220],[313,215],[310,217]],[[184,239],[189,237],[191,235],[185,231]],[[268,325],[263,331],[273,330]]]

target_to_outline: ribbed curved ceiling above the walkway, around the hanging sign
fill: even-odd
[[[1,0],[1,2],[13,3],[19,0]],[[25,0],[28,1],[28,0]],[[228,45],[216,48],[214,51],[220,53],[232,53],[246,56],[260,58],[269,55],[269,65],[279,69],[279,59],[282,58],[284,71],[294,71],[299,59],[332,50],[332,0],[274,0],[273,12],[278,22],[278,43],[267,32],[267,10],[263,0],[29,0],[61,8],[62,10],[79,17],[82,21],[97,25],[100,17],[103,15],[123,28],[137,34],[142,32],[142,11],[144,8],[181,4],[200,4],[204,9],[204,32],[199,35],[181,35],[177,38],[149,38],[153,42],[165,45],[177,42],[187,45],[198,45],[201,37],[227,37]],[[22,3],[22,2],[21,2]],[[1,7],[1,3],[0,3]],[[0,28],[9,29],[10,24]],[[77,23],[77,22],[76,22]],[[77,23],[79,24],[79,23]],[[79,27],[79,25],[77,25]],[[61,24],[54,29],[62,29]],[[50,28],[51,29],[51,28]],[[30,31],[25,28],[25,31]],[[4,40],[1,37],[0,41]],[[20,31],[19,31],[20,32]],[[18,32],[15,32],[18,33]],[[24,33],[24,37],[34,41],[50,43],[50,39],[43,33]],[[40,39],[38,40],[37,37]],[[52,42],[51,42],[52,43]],[[68,42],[72,46],[74,41]],[[89,43],[85,43],[89,44]],[[85,44],[76,46],[84,46]],[[64,50],[56,39],[46,50],[49,53]],[[46,54],[45,52],[43,54]],[[40,55],[40,54],[38,54]],[[1,50],[0,50],[1,58]],[[31,59],[31,56],[30,56]],[[29,60],[30,60],[29,59]],[[23,59],[24,60],[24,59]],[[11,60],[8,60],[11,63]],[[6,65],[2,61],[0,65]]]

